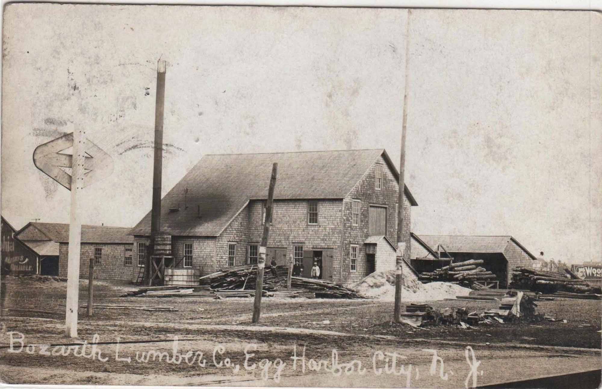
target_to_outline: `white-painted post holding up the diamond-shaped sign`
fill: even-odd
[[[67,301],[65,335],[76,338],[79,305],[79,253],[81,244],[81,219],[79,217],[79,191],[84,187],[85,130],[73,129],[73,157],[71,163],[71,210],[69,220],[69,251],[67,254]]]

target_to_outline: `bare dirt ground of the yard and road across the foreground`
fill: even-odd
[[[598,332],[602,315],[600,302],[595,300],[539,303],[538,312],[567,323],[496,323],[463,330],[397,325],[392,322],[392,303],[379,300],[264,297],[261,323],[252,324],[252,299],[119,297],[135,287],[96,282],[96,304],[174,307],[178,311],[98,308],[87,317],[85,308],[80,308],[79,341],[89,344],[98,335],[93,353],[90,346],[83,351],[82,346],[54,346],[76,341],[64,335],[66,282],[11,277],[2,281],[6,292],[0,311],[0,346],[4,346],[0,349],[0,377],[11,384],[299,386],[302,382],[323,386],[327,382],[349,386],[346,380],[353,378],[357,385],[351,386],[471,387],[472,378],[468,386],[464,380],[473,370],[481,385],[515,378],[516,370],[500,369],[512,364],[523,364],[521,374],[529,376],[602,366]],[[79,299],[80,305],[87,301],[85,281],[80,284]],[[466,307],[470,311],[497,308],[498,304],[429,302],[433,307]],[[132,341],[141,343],[123,343]],[[42,350],[34,344],[53,346]],[[480,361],[478,369],[469,363],[467,346]],[[101,356],[96,354],[98,350]],[[435,358],[439,362],[432,370],[435,351],[441,361]],[[291,359],[294,355],[297,359]],[[337,363],[332,362],[335,357]],[[320,359],[324,360],[321,364],[316,362]],[[391,367],[393,359],[396,371],[399,373],[403,364],[404,372],[377,374],[385,365]],[[440,372],[443,361],[450,367],[448,373],[452,367],[456,369],[447,379]],[[336,371],[329,371],[333,365]],[[524,370],[525,366],[530,369]],[[362,374],[362,369],[367,372]],[[475,373],[477,370],[482,375]]]

